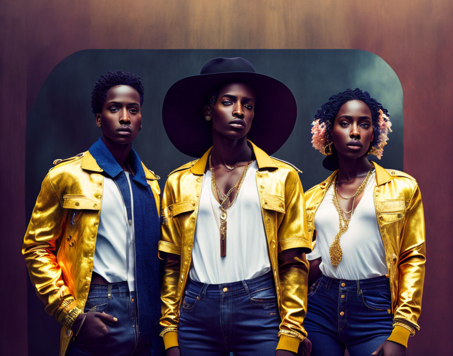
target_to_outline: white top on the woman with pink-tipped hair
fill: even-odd
[[[332,266],[330,261],[329,247],[340,230],[339,216],[332,201],[333,184],[327,190],[314,216],[316,245],[313,251],[307,254],[309,260],[321,257],[320,269],[325,276],[360,280],[388,274],[373,201],[375,186],[376,173],[373,173],[365,187],[363,197],[354,209],[348,230],[340,237],[343,257],[337,268]]]

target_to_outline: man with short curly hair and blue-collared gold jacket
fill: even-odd
[[[125,71],[96,81],[100,138],[55,160],[22,253],[45,310],[62,325],[60,356],[161,355],[159,176],[132,149],[142,128],[142,79]]]

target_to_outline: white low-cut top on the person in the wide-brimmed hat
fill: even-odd
[[[220,284],[255,278],[270,271],[266,234],[253,162],[233,204],[227,209],[227,255],[220,256],[220,204],[211,189],[211,172],[203,176],[190,278]]]

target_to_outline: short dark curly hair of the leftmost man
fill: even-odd
[[[128,85],[133,87],[140,95],[140,106],[143,105],[145,88],[143,87],[142,78],[123,70],[117,72],[109,71],[99,77],[93,87],[93,92],[91,93],[91,107],[95,115],[102,112],[107,93],[110,88],[115,85]]]

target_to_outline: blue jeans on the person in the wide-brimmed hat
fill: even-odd
[[[270,272],[245,281],[189,281],[180,308],[183,356],[275,356],[281,318]]]

